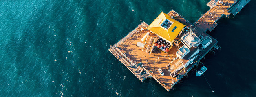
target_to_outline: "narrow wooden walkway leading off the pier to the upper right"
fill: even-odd
[[[208,10],[204,15],[202,15],[194,23],[194,25],[197,27],[197,29],[201,29],[204,32],[206,30],[209,30],[211,32],[218,25],[216,22],[219,19],[221,19],[223,16],[229,17],[231,13],[238,13],[249,1],[250,0],[237,0],[237,2],[240,2],[242,4],[239,5],[239,3],[235,3],[235,0],[221,0],[223,4],[217,3],[215,6],[212,6],[212,8],[210,8],[210,10]]]

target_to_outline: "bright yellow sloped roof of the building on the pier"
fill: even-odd
[[[166,19],[172,22],[172,25],[168,29],[161,26],[161,24]],[[174,27],[176,27],[176,29],[174,29]],[[160,15],[158,15],[156,19],[154,19],[154,21],[148,26],[147,29],[154,32],[158,36],[161,36],[166,40],[169,40],[170,42],[172,42],[172,40],[174,40],[178,36],[179,32],[181,32],[181,30],[184,27],[185,25],[172,19],[169,15],[162,12],[160,13]]]

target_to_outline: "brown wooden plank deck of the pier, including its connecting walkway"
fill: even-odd
[[[216,0],[212,0],[212,2]],[[245,1],[245,0],[244,0]],[[211,2],[211,1],[210,1]],[[192,25],[194,33],[196,36],[207,37],[212,40],[211,44],[207,48],[190,48],[188,55],[193,54],[194,51],[198,50],[200,53],[197,55],[190,64],[179,70],[181,76],[179,78],[174,78],[170,75],[171,72],[179,68],[181,65],[187,63],[190,58],[179,59],[176,56],[177,49],[183,44],[178,46],[173,46],[168,53],[154,48],[154,42],[157,39],[157,35],[149,34],[144,42],[143,48],[137,46],[137,42],[141,42],[141,38],[145,36],[149,30],[146,28],[149,26],[147,23],[143,22],[138,25],[132,32],[128,33],[124,38],[119,40],[116,44],[111,46],[108,50],[117,58],[121,63],[123,63],[128,70],[130,70],[141,82],[147,78],[154,78],[161,86],[163,86],[167,91],[173,88],[175,84],[181,80],[187,73],[194,67],[194,65],[199,64],[199,61],[212,49],[220,48],[217,46],[218,41],[209,34],[206,33],[207,30],[212,31],[216,26],[218,19],[223,16],[229,16],[236,8],[236,2],[234,0],[222,0],[223,4],[217,3],[212,4],[210,10],[207,11],[202,17],[200,17],[195,23],[190,23],[181,15],[179,15],[174,10],[171,10],[168,15],[173,17],[175,20],[183,23],[186,26]],[[242,2],[242,1],[239,1]],[[245,5],[249,2],[245,1]],[[208,4],[207,4],[208,5]],[[232,7],[232,8],[230,8]],[[240,9],[241,10],[241,9]],[[239,11],[240,11],[239,10]],[[141,30],[143,28],[143,30]],[[182,35],[181,35],[182,36]],[[179,63],[179,64],[177,64]],[[174,70],[169,70],[168,68],[175,68]],[[157,71],[159,68],[164,72],[164,76]]]

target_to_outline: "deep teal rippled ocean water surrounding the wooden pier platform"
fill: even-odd
[[[194,22],[208,1],[1,0],[0,97],[255,97],[255,0],[209,32],[221,46],[202,60],[214,93],[195,71],[169,92],[140,82],[108,51],[140,20],[174,9]]]

